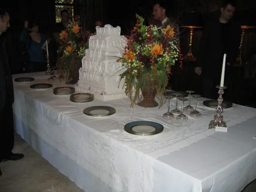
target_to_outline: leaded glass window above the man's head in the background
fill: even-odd
[[[74,0],[55,0],[55,17],[56,23],[61,21],[60,12],[64,9],[68,10],[72,19],[74,18]]]

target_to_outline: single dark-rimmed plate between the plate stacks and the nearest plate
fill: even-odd
[[[104,117],[116,113],[116,110],[110,106],[92,106],[84,109],[84,114],[95,117]]]

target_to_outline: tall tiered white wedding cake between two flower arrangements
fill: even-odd
[[[125,71],[120,62],[126,46],[126,38],[120,36],[121,28],[105,25],[96,28],[96,35],[89,39],[89,48],[82,59],[76,92],[89,92],[94,98],[107,101],[126,97],[123,89],[124,79],[120,74]]]

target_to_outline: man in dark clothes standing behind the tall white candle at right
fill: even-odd
[[[220,18],[208,23],[202,35],[198,57],[196,60],[196,74],[202,79],[202,96],[216,99],[220,85],[222,60],[226,53],[225,86],[230,90],[230,70],[235,62],[240,44],[241,28],[232,17],[235,5],[226,1],[222,8]],[[229,90],[225,90],[225,100],[230,100]]]

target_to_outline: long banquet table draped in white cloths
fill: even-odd
[[[14,82],[16,131],[60,172],[86,192],[240,192],[256,178],[256,109],[224,109],[228,132],[208,130],[215,110],[198,99],[200,118],[164,120],[162,109],[130,108],[128,99],[73,103],[56,96],[63,86],[42,73]],[[31,84],[50,82],[47,90]],[[217,91],[217,90],[216,90]],[[194,100],[191,104],[194,106]],[[175,100],[171,101],[172,108]],[[89,106],[116,108],[108,117],[83,114]],[[180,105],[180,103],[179,103]],[[137,120],[162,124],[154,136],[136,136],[124,125]]]

